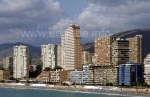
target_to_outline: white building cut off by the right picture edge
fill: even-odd
[[[144,80],[150,85],[150,54],[144,59]]]

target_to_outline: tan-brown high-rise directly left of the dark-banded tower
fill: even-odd
[[[108,66],[111,64],[111,37],[95,40],[96,66]]]

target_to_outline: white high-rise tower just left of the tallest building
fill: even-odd
[[[43,70],[46,67],[54,69],[56,66],[56,54],[55,54],[55,45],[48,44],[42,45],[42,62],[43,62]]]

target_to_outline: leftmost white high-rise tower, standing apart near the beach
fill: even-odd
[[[27,78],[29,75],[29,48],[27,46],[14,46],[13,77]]]

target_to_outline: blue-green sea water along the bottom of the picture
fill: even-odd
[[[94,94],[43,89],[0,88],[0,97],[134,97],[117,94]],[[135,96],[137,97],[137,96]]]

